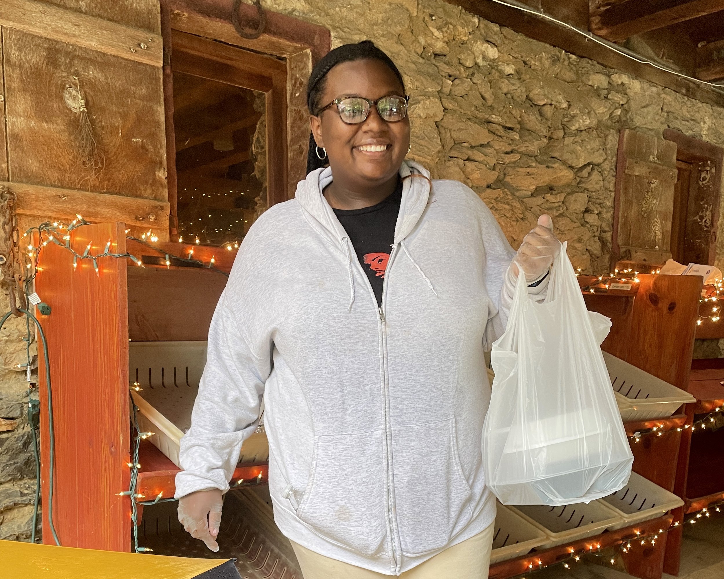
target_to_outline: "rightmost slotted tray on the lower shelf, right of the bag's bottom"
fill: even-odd
[[[612,527],[614,529],[655,519],[665,512],[683,506],[683,500],[678,496],[636,473],[631,473],[631,478],[623,489],[601,500],[623,517],[623,523]]]

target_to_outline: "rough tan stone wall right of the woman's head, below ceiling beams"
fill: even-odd
[[[434,177],[473,187],[514,247],[540,214],[551,214],[584,271],[609,271],[621,128],[659,137],[672,128],[724,145],[724,109],[442,0],[262,5],[326,26],[333,47],[374,41],[403,72],[411,95],[411,159]]]

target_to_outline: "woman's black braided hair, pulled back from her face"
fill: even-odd
[[[325,54],[317,64],[314,65],[309,80],[307,81],[307,108],[309,114],[315,115],[322,103],[319,102],[321,93],[324,93],[324,86],[327,81],[327,73],[342,62],[353,62],[355,60],[379,60],[390,67],[395,73],[397,80],[405,90],[405,82],[403,75],[392,62],[390,56],[384,54],[379,48],[374,46],[372,41],[362,41],[356,44],[342,44]],[[327,166],[327,159],[319,159],[316,154],[316,141],[314,136],[309,134],[309,151],[307,153],[307,173],[314,169]]]

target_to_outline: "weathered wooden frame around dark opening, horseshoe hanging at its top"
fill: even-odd
[[[271,139],[283,138],[283,156],[270,159],[267,153],[267,206],[280,203],[294,196],[297,182],[306,176],[306,156],[309,139],[309,121],[306,107],[305,85],[313,62],[327,54],[331,48],[329,29],[296,18],[264,11],[266,26],[258,38],[248,40],[237,34],[231,22],[233,0],[161,0],[161,30],[164,35],[164,102],[167,109],[167,145],[169,159],[174,146],[173,90],[170,79],[172,61],[172,35],[188,33],[203,39],[211,39],[227,48],[239,47],[253,51],[258,56],[277,57],[286,67],[285,85],[277,78],[274,101],[271,106],[286,104],[285,116],[275,119],[274,126],[267,123],[267,151]],[[240,20],[250,30],[256,28],[256,9],[241,4]],[[222,44],[223,43],[223,44]],[[266,91],[265,91],[266,92]],[[267,93],[269,95],[269,93]],[[267,101],[267,107],[270,106]],[[169,114],[170,111],[170,114]],[[267,117],[269,119],[269,117]],[[277,146],[278,143],[277,143]],[[279,147],[279,150],[281,148]],[[168,163],[169,203],[172,207],[170,227],[172,235],[176,227],[177,184],[174,163]],[[274,179],[276,179],[274,181]],[[272,187],[272,181],[276,183]]]

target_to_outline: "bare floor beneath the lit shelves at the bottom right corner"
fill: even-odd
[[[603,557],[602,557],[603,559]],[[605,557],[605,560],[610,560]],[[603,560],[602,560],[603,563]],[[544,569],[530,579],[627,579],[631,575],[596,562],[583,561],[566,570],[562,566]],[[529,579],[526,577],[526,579]],[[673,579],[664,575],[663,579]],[[696,525],[686,525],[678,579],[724,579],[724,515]]]

